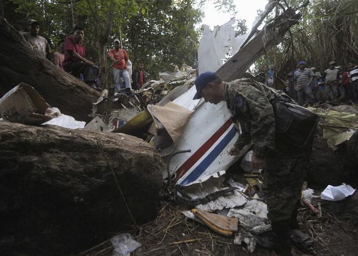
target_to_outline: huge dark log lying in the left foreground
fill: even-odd
[[[161,162],[142,139],[10,122],[0,130],[1,255],[75,255],[131,228],[96,138],[137,224],[156,217]]]

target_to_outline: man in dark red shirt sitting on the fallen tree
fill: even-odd
[[[82,74],[86,84],[94,85],[93,62],[84,58],[85,49],[82,44],[84,30],[81,26],[76,25],[73,31],[74,35],[68,36],[64,40],[64,61],[62,67],[64,71],[71,72],[75,77],[79,78]]]

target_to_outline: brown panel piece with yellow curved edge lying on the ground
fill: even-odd
[[[191,212],[201,221],[204,222],[213,231],[223,235],[232,236],[234,231],[237,231],[237,219],[229,218],[219,214],[207,213],[197,209],[191,210]]]

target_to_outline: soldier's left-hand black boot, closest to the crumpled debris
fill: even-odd
[[[256,243],[262,248],[274,250],[282,256],[292,255],[288,223],[288,220],[272,223],[272,233],[266,237],[256,237]]]

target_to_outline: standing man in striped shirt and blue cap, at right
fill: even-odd
[[[302,106],[306,102],[310,105],[315,103],[310,84],[315,74],[312,69],[306,68],[304,61],[299,62],[300,68],[295,72],[295,91],[297,91],[298,104]]]

